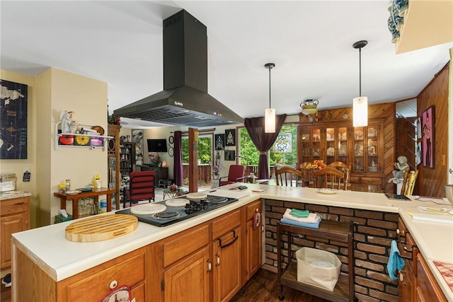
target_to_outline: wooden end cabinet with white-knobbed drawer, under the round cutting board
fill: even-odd
[[[113,289],[130,287],[131,301],[147,298],[147,247],[139,248],[62,281],[54,281],[28,255],[16,248],[19,276],[13,291],[13,301],[101,301]],[[34,287],[33,287],[34,286]]]

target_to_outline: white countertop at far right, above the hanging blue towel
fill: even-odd
[[[452,208],[452,206],[444,205],[435,205],[433,207]],[[445,279],[433,263],[434,260],[437,260],[453,264],[453,224],[414,220],[408,214],[411,212],[423,213],[417,207],[409,207],[400,209],[399,214],[447,300],[453,301],[452,290],[449,289],[447,282],[445,282]]]

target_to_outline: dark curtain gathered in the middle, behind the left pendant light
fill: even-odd
[[[268,166],[268,151],[277,139],[277,135],[282,129],[283,122],[285,122],[287,115],[275,116],[275,133],[264,132],[264,117],[251,117],[246,118],[244,125],[247,129],[250,139],[260,151],[260,158],[258,160],[258,179],[269,179],[269,166]]]

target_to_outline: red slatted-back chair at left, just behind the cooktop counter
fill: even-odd
[[[123,207],[126,207],[126,202],[139,202],[139,200],[151,199],[154,202],[156,196],[154,186],[156,184],[156,171],[138,171],[130,173],[129,189],[125,189],[123,194]]]

